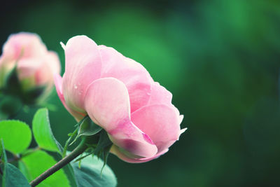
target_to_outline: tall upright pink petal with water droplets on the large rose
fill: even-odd
[[[69,39],[64,50],[66,64],[62,90],[65,102],[76,111],[84,112],[85,90],[100,77],[102,62],[99,50],[87,36]]]

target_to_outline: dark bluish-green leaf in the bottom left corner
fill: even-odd
[[[7,156],[5,148],[3,145],[3,139],[1,139],[1,160],[3,160],[3,177],[2,186],[3,187],[26,187],[30,186],[25,176],[20,172],[20,170],[7,162]]]

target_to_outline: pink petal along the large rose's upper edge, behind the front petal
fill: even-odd
[[[130,95],[131,111],[148,103],[152,78],[138,62],[124,57],[113,48],[99,46],[102,55],[102,77],[113,77],[125,83]]]

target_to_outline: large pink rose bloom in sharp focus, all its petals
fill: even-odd
[[[62,43],[66,66],[55,86],[65,108],[85,115],[109,134],[111,153],[126,162],[147,162],[168,151],[186,129],[172,94],[138,62],[87,36]]]

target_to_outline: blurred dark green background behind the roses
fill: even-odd
[[[157,160],[111,155],[118,186],[280,186],[280,2],[2,1],[0,43],[39,34],[62,62],[66,43],[85,34],[148,69],[173,93],[188,127]],[[55,137],[75,121],[55,92]],[[36,109],[18,118],[31,124]],[[27,117],[27,118],[26,118]]]

